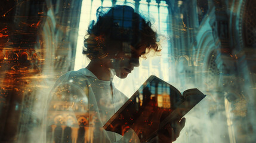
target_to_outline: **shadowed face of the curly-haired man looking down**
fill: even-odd
[[[116,76],[124,79],[134,69],[134,67],[140,66],[139,58],[145,54],[146,47],[140,46],[135,49],[133,46],[129,46],[129,52],[119,51],[115,54],[115,58],[112,59],[113,69],[116,72]]]

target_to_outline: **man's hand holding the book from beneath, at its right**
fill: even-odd
[[[163,143],[170,143],[176,141],[180,136],[181,129],[185,126],[186,119],[183,118],[180,121],[168,123],[164,129],[161,129],[158,133],[158,141]]]

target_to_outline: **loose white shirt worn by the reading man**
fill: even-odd
[[[63,74],[55,83],[48,99],[47,125],[58,124],[79,128],[79,125],[83,124],[85,140],[88,142],[140,142],[132,129],[121,136],[102,128],[128,100],[113,84],[111,88],[110,83],[99,80],[88,69]],[[60,120],[53,117],[57,111],[65,117]],[[74,135],[72,137],[76,138]]]

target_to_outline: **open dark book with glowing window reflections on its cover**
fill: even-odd
[[[164,80],[150,76],[103,128],[120,135],[132,128],[140,141],[146,142],[160,129],[162,132],[167,123],[180,120],[205,96],[196,88],[181,94]]]

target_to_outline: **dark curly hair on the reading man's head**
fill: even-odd
[[[108,8],[110,10],[104,13]],[[106,57],[107,50],[120,50],[120,46],[115,49],[113,45],[121,45],[122,42],[128,42],[135,49],[146,46],[149,51],[161,51],[152,24],[135,13],[132,7],[99,7],[97,17],[97,22],[92,20],[88,27],[82,51],[90,60]]]

